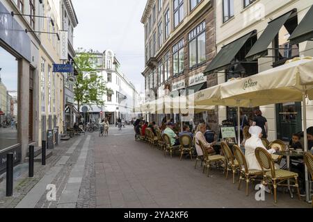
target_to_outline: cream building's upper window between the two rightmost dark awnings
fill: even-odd
[[[298,26],[297,16],[291,17],[287,22],[280,28],[278,35],[274,40],[274,54],[275,54],[275,66],[282,65],[285,60],[299,56],[298,44],[291,45],[289,37],[294,32],[296,26]]]

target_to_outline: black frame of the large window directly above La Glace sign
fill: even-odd
[[[207,53],[205,53],[205,60],[203,62],[198,62],[198,37],[200,35],[202,35],[204,33],[204,44],[207,43],[207,33],[206,33],[206,23],[205,21],[201,22],[198,26],[196,26],[195,28],[193,28],[193,30],[191,32],[188,33],[188,65],[189,65],[189,69],[196,69],[198,67],[201,67],[202,65],[207,63]],[[195,35],[193,35],[193,33],[195,32]],[[195,65],[191,66],[191,62],[190,62],[190,44],[191,42],[195,40],[195,53],[196,53],[196,62]]]

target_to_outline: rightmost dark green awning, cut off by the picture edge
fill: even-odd
[[[307,15],[303,17],[300,24],[291,34],[289,40],[291,44],[298,44],[300,42],[305,42],[307,40],[313,39],[313,6],[307,12]]]

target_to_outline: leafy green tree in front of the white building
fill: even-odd
[[[99,71],[95,68],[97,58],[86,51],[79,51],[74,58],[75,68],[78,71],[77,82],[74,84],[74,99],[77,101],[77,108],[81,105],[104,105],[103,95],[107,88]]]

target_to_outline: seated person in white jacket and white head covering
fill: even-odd
[[[267,150],[265,146],[262,143],[262,128],[259,126],[251,126],[249,129],[249,133],[251,135],[250,139],[247,139],[245,148],[246,148],[246,160],[248,164],[249,169],[257,169],[257,170],[262,170],[261,166],[259,165],[259,162],[257,161],[257,157],[255,156],[255,149],[257,147],[262,147],[268,153],[273,154],[278,151],[277,148],[271,148],[270,150]]]

